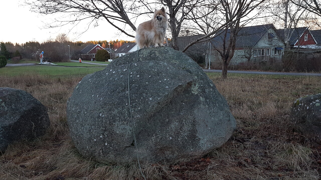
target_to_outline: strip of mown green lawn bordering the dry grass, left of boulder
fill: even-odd
[[[18,76],[25,74],[53,75],[53,76],[85,76],[104,68],[83,68],[83,67],[55,67],[46,65],[36,66],[8,66],[0,69],[0,76]]]

